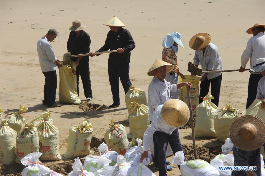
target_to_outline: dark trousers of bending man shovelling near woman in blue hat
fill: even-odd
[[[208,79],[207,77],[203,82],[200,83],[200,97],[205,97],[209,93],[210,84],[211,84],[211,95],[214,99],[211,99],[211,102],[217,107],[219,105],[220,89],[222,82],[222,74],[213,79]],[[203,102],[203,98],[199,98],[199,104]]]

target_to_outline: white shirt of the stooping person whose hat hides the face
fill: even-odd
[[[153,121],[149,125],[149,127],[144,132],[144,151],[148,151],[148,147],[150,145],[151,140],[153,139],[153,134],[155,131],[160,131],[163,133],[167,133],[169,135],[172,134],[172,132],[176,129],[175,127],[171,127],[164,123],[161,117],[161,109],[163,105],[159,105],[153,113]]]

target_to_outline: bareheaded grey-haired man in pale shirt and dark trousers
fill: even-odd
[[[52,42],[58,35],[55,29],[49,29],[45,36],[37,42],[37,51],[39,55],[39,64],[42,73],[45,76],[44,84],[44,99],[42,100],[43,105],[48,107],[60,107],[60,104],[55,103],[55,94],[57,88],[57,67],[62,67],[60,61],[54,55]],[[50,41],[50,42],[49,42]]]

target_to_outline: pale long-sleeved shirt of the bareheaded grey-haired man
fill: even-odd
[[[55,64],[57,58],[54,55],[52,45],[46,37],[42,36],[37,42],[37,51],[41,71],[46,72],[57,70],[57,66]]]

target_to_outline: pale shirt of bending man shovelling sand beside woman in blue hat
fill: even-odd
[[[201,65],[202,70],[222,70],[222,61],[217,46],[213,43],[209,43],[206,46],[205,52],[203,50],[196,50],[193,58],[193,63],[198,66]],[[204,74],[202,74],[204,75]],[[208,79],[216,78],[221,73],[210,73],[207,75]]]

